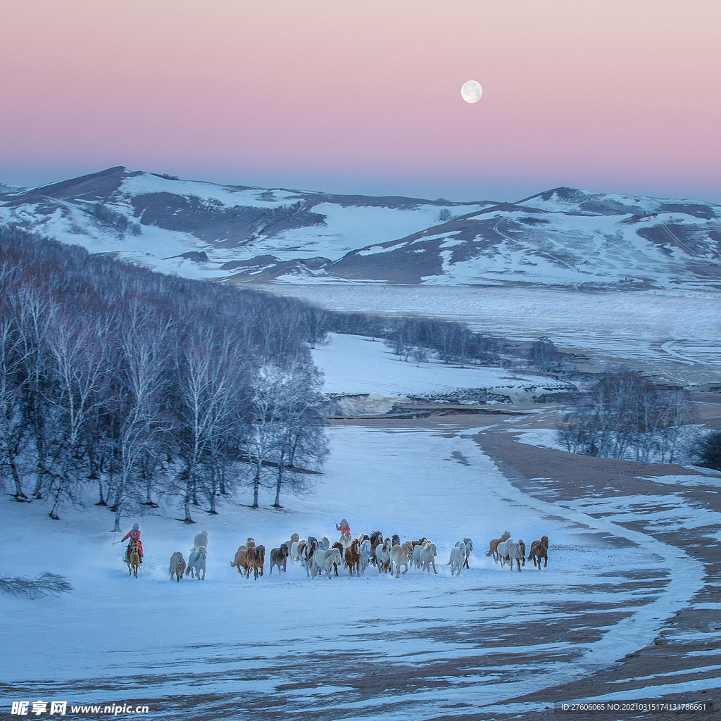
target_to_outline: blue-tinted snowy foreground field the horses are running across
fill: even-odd
[[[521,712],[526,705],[505,700],[649,644],[702,583],[699,562],[621,525],[644,514],[673,523],[668,508],[654,510],[663,498],[588,499],[583,508],[529,499],[452,423],[329,435],[317,489],[283,499],[283,511],[267,508],[267,495],[260,510],[234,502],[219,516],[197,509],[193,527],[173,508],[138,518],[146,550],[138,579],[128,578],[122,545],[112,546],[120,536],[109,530],[109,511],[68,508],[51,521],[45,506],[5,497],[2,573],[53,570],[74,591],[40,601],[0,596],[2,707],[147,699],[151,717],[259,721],[279,713],[410,720],[454,704],[464,713]],[[721,521],[691,503],[676,515],[686,527]],[[293,531],[335,535],[331,516],[348,518],[354,534],[428,536],[438,544],[438,575],[368,570],[310,580],[293,566],[268,576],[266,562],[254,582],[229,565],[247,536],[267,558]],[[205,581],[171,582],[169,557],[187,557],[200,528],[209,536]],[[504,528],[527,547],[549,536],[547,569],[528,562],[518,573],[485,557]],[[451,577],[445,564],[463,536],[474,539],[471,567]],[[638,573],[642,584],[629,581]]]

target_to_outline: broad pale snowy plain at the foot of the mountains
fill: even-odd
[[[327,309],[445,318],[512,340],[548,336],[596,361],[626,361],[667,381],[721,381],[721,296],[581,293],[539,288],[262,286]],[[653,372],[652,371],[652,372]]]

